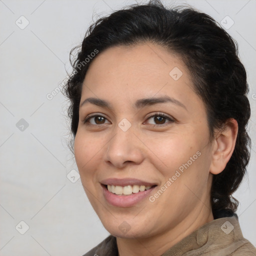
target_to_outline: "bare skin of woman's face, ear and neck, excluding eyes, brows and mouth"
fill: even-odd
[[[169,75],[174,67],[183,73],[177,80]],[[210,142],[205,106],[192,86],[182,60],[151,42],[108,48],[90,63],[80,102],[96,97],[112,108],[89,102],[80,106],[74,154],[88,199],[116,236],[120,256],[161,255],[213,220],[212,175],[224,169],[232,154],[237,123],[230,119]],[[133,106],[137,99],[165,95],[184,107],[172,102]],[[157,112],[173,121],[148,119]],[[102,124],[93,117],[83,123],[93,113],[105,117]],[[118,126],[123,118],[131,124],[127,131]],[[105,200],[101,180],[145,180],[157,184],[153,195],[197,151],[200,156],[153,202],[146,197],[134,206],[117,207]],[[126,233],[118,228],[124,220],[130,226]]]

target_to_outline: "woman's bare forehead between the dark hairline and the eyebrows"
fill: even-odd
[[[169,95],[187,101],[192,90],[189,72],[179,56],[153,43],[113,46],[96,55],[82,86],[82,97],[124,102]]]

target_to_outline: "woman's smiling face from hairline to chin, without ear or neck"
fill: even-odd
[[[93,59],[74,154],[88,199],[114,236],[152,236],[210,211],[205,107],[183,62],[159,45],[115,46]]]

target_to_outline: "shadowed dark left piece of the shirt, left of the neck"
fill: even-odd
[[[102,242],[100,242],[97,246],[92,248],[87,253],[83,254],[82,256],[117,256],[117,245],[116,245],[116,238],[112,235],[107,236]]]

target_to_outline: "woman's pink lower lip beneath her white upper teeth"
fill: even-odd
[[[129,195],[118,195],[111,193],[107,190],[104,185],[101,185],[103,188],[103,195],[108,203],[117,207],[130,207],[140,202],[144,198],[148,198],[151,191],[156,187],[151,187],[144,191],[139,191],[137,193],[132,193]]]

